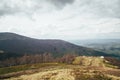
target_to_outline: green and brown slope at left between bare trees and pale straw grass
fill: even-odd
[[[16,77],[24,74],[33,74],[41,71],[50,71],[51,69],[64,68],[65,64],[60,63],[40,63],[30,65],[12,66],[0,68],[0,80],[10,77]]]

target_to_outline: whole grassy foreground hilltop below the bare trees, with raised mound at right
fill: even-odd
[[[112,60],[114,59],[112,58]],[[77,64],[75,64],[75,62]],[[100,57],[78,56],[73,61],[73,64],[42,63],[6,67],[0,68],[0,79],[120,80],[120,69],[118,69],[120,65],[115,66],[110,64],[110,62],[107,59]]]

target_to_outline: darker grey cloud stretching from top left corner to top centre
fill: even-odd
[[[17,3],[20,1],[22,4]],[[27,5],[27,2],[31,2],[30,5]],[[52,9],[54,6],[56,9],[63,8],[66,4],[73,3],[74,0],[1,0],[0,1],[0,16],[15,14],[15,13],[25,13],[32,14],[36,11],[42,11],[45,8]],[[47,7],[46,7],[47,6]],[[48,8],[48,9],[47,9]],[[44,11],[44,10],[43,10]]]

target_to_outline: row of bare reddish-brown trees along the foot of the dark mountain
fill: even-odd
[[[6,60],[0,61],[0,67],[24,65],[24,64],[35,64],[35,63],[69,63],[71,64],[77,55],[75,54],[65,54],[62,57],[53,57],[51,53],[27,55],[17,58],[8,58]]]

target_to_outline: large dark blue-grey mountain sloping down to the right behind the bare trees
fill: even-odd
[[[43,54],[46,52],[59,57],[68,53],[91,56],[114,56],[90,48],[77,46],[63,40],[34,39],[15,33],[0,33],[0,52],[2,52],[0,59],[25,54]]]

